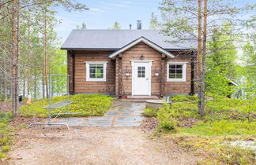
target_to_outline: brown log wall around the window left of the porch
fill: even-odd
[[[108,55],[111,51],[75,51],[75,93],[104,93],[115,94],[115,61],[111,61]],[[106,82],[86,82],[85,61],[107,61]]]

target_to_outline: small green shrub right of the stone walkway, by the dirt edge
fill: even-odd
[[[159,109],[157,119],[159,120],[160,128],[178,131],[179,122],[173,118],[173,111],[171,111],[168,104],[165,104],[164,108]]]

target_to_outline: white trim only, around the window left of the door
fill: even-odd
[[[104,64],[104,78],[92,79],[90,78],[90,64]],[[107,61],[85,61],[86,81],[87,82],[106,82]]]

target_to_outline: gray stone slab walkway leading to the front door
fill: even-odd
[[[145,103],[114,101],[110,110],[100,117],[57,119],[70,127],[139,127]]]

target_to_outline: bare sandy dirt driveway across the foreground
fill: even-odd
[[[197,158],[132,127],[24,129],[9,164],[194,164]]]

